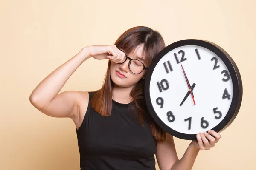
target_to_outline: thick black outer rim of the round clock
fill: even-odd
[[[228,71],[230,72],[230,76],[233,82],[233,98],[230,105],[230,109],[227,112],[227,115],[224,117],[224,119],[215,127],[212,128],[212,130],[215,130],[216,132],[221,132],[224,129],[226,129],[236,118],[239,109],[241,107],[241,101],[242,101],[242,80],[241,75],[239,72],[239,69],[237,68],[236,63],[233,61],[233,59],[230,57],[230,55],[224,51],[223,48],[216,45],[213,42],[207,41],[207,40],[198,40],[198,39],[186,39],[186,40],[180,40],[177,42],[174,42],[165,48],[163,48],[162,51],[160,51],[157,56],[153,59],[151,62],[151,65],[148,68],[146,77],[145,77],[145,101],[148,107],[148,111],[150,112],[151,116],[163,130],[165,130],[167,133],[171,134],[172,136],[175,136],[180,139],[185,140],[195,140],[196,134],[185,134],[177,132],[176,130],[173,130],[169,126],[167,126],[158,116],[157,113],[154,111],[154,108],[151,104],[150,99],[150,81],[151,81],[151,75],[154,71],[154,68],[156,67],[157,63],[162,59],[169,51],[172,51],[175,48],[178,48],[180,46],[185,45],[198,45],[204,48],[207,48],[208,50],[215,53],[218,57],[221,58],[221,60],[224,62],[224,64],[227,66]],[[154,100],[153,100],[154,101]]]

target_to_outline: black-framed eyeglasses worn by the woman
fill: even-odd
[[[121,50],[122,51],[122,50]],[[122,51],[124,52],[124,51]],[[124,52],[125,53],[125,52]],[[147,70],[148,68],[138,59],[131,59],[130,57],[128,57],[126,54],[125,54],[125,61],[127,59],[130,59],[129,61],[129,70],[134,73],[134,74],[140,74],[143,70]],[[124,61],[124,62],[125,62]],[[118,64],[122,64],[124,62],[121,62],[121,63],[118,63]]]

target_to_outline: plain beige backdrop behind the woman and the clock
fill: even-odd
[[[160,31],[166,45],[196,38],[234,59],[243,81],[240,112],[193,170],[255,170],[255,40],[253,0],[6,0],[0,2],[0,170],[78,170],[76,127],[29,103],[50,72],[88,45],[113,44],[133,26]],[[96,67],[97,65],[97,67]],[[107,60],[89,59],[61,91],[99,89]],[[179,158],[189,141],[175,138]],[[157,170],[158,170],[157,166]]]

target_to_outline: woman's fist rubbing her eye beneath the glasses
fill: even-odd
[[[116,45],[92,45],[88,46],[89,57],[94,59],[109,59],[115,63],[121,63],[125,59],[125,53],[116,48]]]

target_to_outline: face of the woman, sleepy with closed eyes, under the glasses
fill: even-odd
[[[121,49],[122,50],[122,49]],[[122,50],[124,51],[124,50]],[[124,51],[125,52],[125,51]],[[138,59],[140,60],[144,65],[145,61],[143,60],[143,45],[140,45],[137,47],[134,52],[131,52],[129,54],[126,53],[128,57],[131,59]],[[114,62],[111,62],[110,65],[110,77],[115,85],[124,87],[124,88],[130,88],[133,87],[140,79],[143,78],[143,76],[146,73],[146,70],[143,70],[140,74],[134,74],[129,70],[129,59],[127,59],[122,64],[116,64]],[[145,65],[148,67],[148,65]],[[123,74],[125,77],[120,76],[120,74]]]

